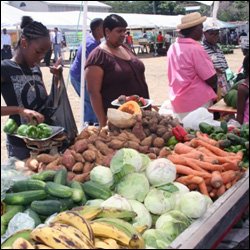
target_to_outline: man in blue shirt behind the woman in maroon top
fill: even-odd
[[[101,18],[93,19],[90,23],[91,33],[87,35],[86,39],[86,59],[92,50],[100,45],[101,39],[103,38],[103,20]],[[82,45],[77,50],[77,55],[70,68],[70,80],[78,94],[81,95],[81,64],[82,64]],[[84,87],[84,122],[88,125],[95,125],[98,123],[98,119],[93,111],[89,93]]]

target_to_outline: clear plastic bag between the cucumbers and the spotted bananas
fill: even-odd
[[[16,232],[19,232],[24,229],[34,229],[34,228],[35,228],[35,221],[29,215],[25,213],[17,213],[10,220],[6,233],[3,236],[1,236],[1,244]]]

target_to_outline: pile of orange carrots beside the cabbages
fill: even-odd
[[[216,199],[244,174],[239,167],[243,153],[226,152],[201,132],[196,136],[190,142],[176,144],[167,158],[176,166],[176,181]]]

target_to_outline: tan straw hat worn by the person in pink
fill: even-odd
[[[182,17],[181,24],[177,25],[177,29],[184,30],[184,29],[195,27],[205,22],[206,19],[207,19],[206,16],[201,16],[201,14],[198,12],[187,14],[184,17]]]

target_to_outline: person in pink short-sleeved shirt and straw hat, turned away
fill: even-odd
[[[208,108],[217,98],[216,71],[199,43],[205,20],[198,12],[184,16],[177,26],[181,36],[167,53],[169,96],[180,120],[200,107]]]

